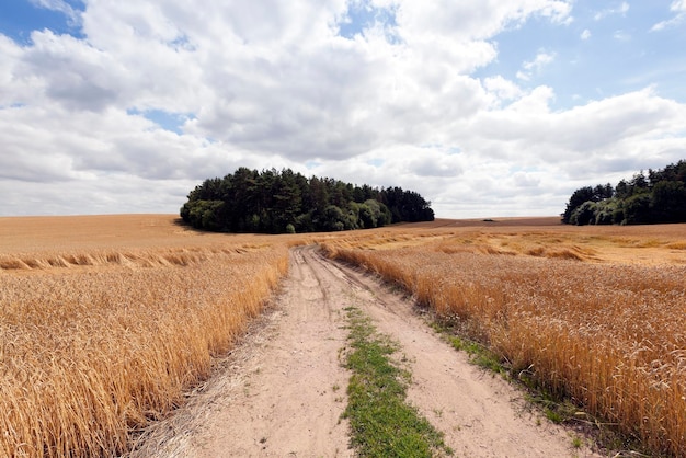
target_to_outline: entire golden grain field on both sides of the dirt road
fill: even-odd
[[[655,453],[686,449],[684,225],[436,220],[309,240],[522,380]],[[209,376],[307,241],[168,215],[0,218],[0,456],[128,450]]]

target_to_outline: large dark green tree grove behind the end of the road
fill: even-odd
[[[308,179],[290,169],[259,172],[240,168],[196,186],[181,208],[181,217],[210,231],[283,233],[432,221],[434,211],[421,195],[400,187]]]

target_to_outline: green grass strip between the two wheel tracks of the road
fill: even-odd
[[[343,415],[350,420],[358,456],[453,455],[443,433],[405,401],[410,373],[391,359],[398,344],[379,334],[359,309],[348,307],[346,311],[351,330],[346,367],[353,375]]]

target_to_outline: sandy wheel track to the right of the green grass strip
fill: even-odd
[[[413,379],[408,400],[444,432],[446,445],[457,456],[601,456],[574,446],[572,432],[528,410],[519,391],[443,342],[411,300],[350,265],[312,255],[355,290],[356,301],[378,331],[400,343],[399,353],[409,362]]]

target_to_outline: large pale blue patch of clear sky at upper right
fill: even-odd
[[[598,4],[603,8],[598,9]],[[652,31],[655,24],[674,18],[668,1],[574,3],[574,21],[559,27],[534,19],[525,26],[494,37],[498,61],[480,76],[502,75],[523,85],[547,84],[558,94],[554,105],[568,108],[588,100],[618,95],[654,85],[664,96],[686,102],[686,22]],[[537,55],[551,61],[523,69]]]

